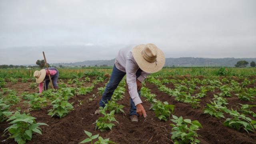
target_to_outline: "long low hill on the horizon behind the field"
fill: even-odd
[[[189,66],[227,66],[232,67],[236,62],[240,60],[246,60],[247,62],[256,62],[256,58],[192,58],[192,57],[183,57],[183,58],[166,58],[165,66],[180,66],[180,67],[189,67]],[[54,66],[102,66],[114,65],[115,59],[112,60],[86,60],[83,62],[73,62],[73,63],[57,63],[53,64]]]

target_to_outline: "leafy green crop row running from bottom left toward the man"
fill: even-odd
[[[58,91],[46,90],[41,94],[25,92],[22,93],[22,99],[26,100],[24,103],[29,104],[31,110],[40,110],[50,103],[52,109],[48,110],[48,115],[62,118],[74,108],[73,103],[68,102],[70,98],[77,94],[86,95],[90,93],[94,85],[103,81],[104,77],[98,76],[96,80],[92,81],[92,86],[83,87],[79,84],[84,81],[74,80],[74,83],[78,86],[76,88],[68,87],[61,82]],[[20,102],[20,98],[14,90],[2,88],[2,92],[0,92],[0,121],[7,119],[6,121],[10,121],[9,124],[12,124],[4,130],[4,134],[8,133],[9,138],[14,138],[19,144],[24,144],[27,140],[31,140],[33,133],[42,134],[39,126],[47,124],[36,122],[36,118],[30,116],[29,113],[10,112],[10,106],[18,102]]]

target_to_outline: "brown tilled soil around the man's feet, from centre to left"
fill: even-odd
[[[51,106],[47,106],[42,110],[31,111],[30,114],[36,117],[36,122],[44,122],[49,126],[40,126],[42,128],[42,135],[34,134],[32,141],[28,141],[28,144],[78,144],[85,138],[84,130],[90,131],[93,134],[100,134],[103,138],[110,138],[110,140],[119,144],[169,144],[170,138],[170,126],[166,122],[160,122],[154,117],[154,112],[148,110],[150,103],[144,101],[143,106],[147,111],[148,118],[140,117],[138,123],[130,122],[129,109],[130,109],[130,96],[126,90],[125,97],[118,101],[118,103],[124,105],[125,115],[115,114],[116,126],[111,131],[100,132],[95,130],[94,122],[100,117],[100,115],[94,115],[94,111],[98,108],[98,102],[101,98],[97,94],[97,88],[104,86],[104,83],[97,84],[90,94],[79,95],[72,99],[70,102],[74,102],[74,110],[72,110],[64,118],[51,118],[47,115],[47,111],[51,109]],[[128,89],[128,88],[126,88]],[[90,101],[92,94],[97,97]],[[78,106],[78,100],[82,100],[82,105]],[[5,128],[8,127],[7,122],[0,123],[0,134],[3,134]],[[14,144],[13,139],[8,139],[8,136],[0,137],[0,141],[3,144]]]

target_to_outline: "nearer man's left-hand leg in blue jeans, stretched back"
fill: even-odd
[[[110,76],[110,80],[106,86],[106,89],[104,90],[104,93],[102,95],[102,98],[100,100],[100,106],[104,107],[105,103],[108,103],[108,100],[111,99],[114,90],[116,90],[118,84],[122,80],[122,78],[125,76],[125,72],[122,72],[121,70],[118,70],[116,66],[114,65],[112,74]]]

